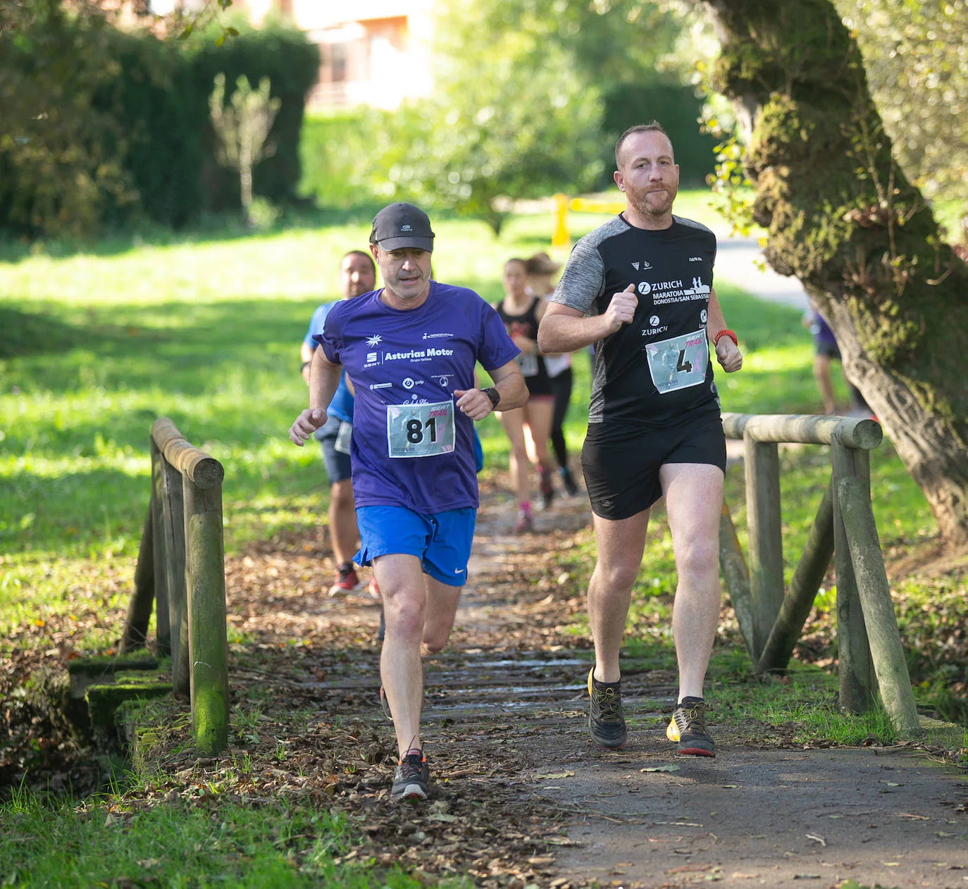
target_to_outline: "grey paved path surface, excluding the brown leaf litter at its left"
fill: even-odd
[[[513,515],[504,492],[482,498],[453,644],[426,664],[424,718],[438,769],[433,801],[480,798],[481,782],[499,783],[529,812],[558,819],[553,851],[529,859],[529,882],[829,889],[851,878],[884,889],[968,887],[963,775],[921,752],[803,750],[776,739],[761,749],[749,745],[750,726],[716,724],[714,759],[680,757],[665,738],[676,677],[632,658],[622,663],[629,742],[599,751],[587,730],[584,640],[538,647],[525,631],[523,645],[513,641],[558,598],[533,587],[535,559],[586,527],[587,507],[576,499],[539,513],[536,534],[524,537],[508,533]],[[317,690],[351,700],[354,716],[389,735],[375,703],[376,667],[376,659],[330,663]],[[489,764],[489,774],[464,768],[446,781],[448,769],[466,765],[462,756]]]

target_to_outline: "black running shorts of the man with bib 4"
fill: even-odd
[[[662,496],[659,468],[706,463],[726,471],[726,437],[719,413],[665,429],[619,438],[614,427],[595,429],[582,446],[582,469],[595,515],[618,521],[648,509]]]

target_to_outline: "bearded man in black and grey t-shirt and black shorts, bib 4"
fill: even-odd
[[[713,756],[703,684],[719,619],[726,443],[708,341],[727,373],[741,368],[742,355],[712,290],[715,235],[672,214],[679,167],[665,131],[654,122],[626,130],[616,167],[625,210],[575,245],[538,329],[544,353],[595,349],[582,448],[598,546],[589,728],[599,747],[625,743],[619,648],[650,507],[664,496],[679,574],[672,627],[680,672],[666,734],[681,753]]]

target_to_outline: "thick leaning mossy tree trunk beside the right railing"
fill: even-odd
[[[830,0],[704,5],[722,44],[713,88],[747,128],[767,262],[802,281],[941,535],[968,547],[968,267],[893,162]]]

